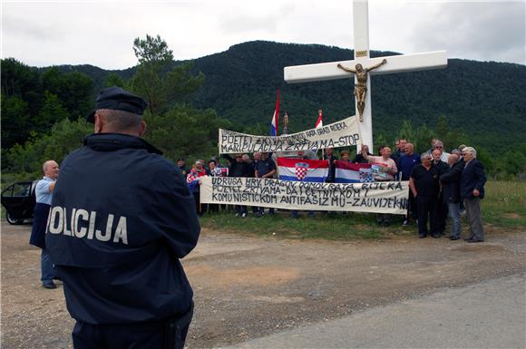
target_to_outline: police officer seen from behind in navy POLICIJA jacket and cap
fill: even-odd
[[[103,90],[94,133],[63,160],[46,244],[78,348],[182,348],[192,290],[180,264],[200,225],[180,170],[140,137],[147,103]]]

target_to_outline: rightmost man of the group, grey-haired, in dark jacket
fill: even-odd
[[[486,173],[482,163],[477,158],[477,151],[472,147],[463,149],[465,162],[461,177],[461,196],[464,200],[466,215],[470,222],[470,238],[467,242],[483,242],[484,230],[482,228],[481,199],[484,198],[484,184]]]

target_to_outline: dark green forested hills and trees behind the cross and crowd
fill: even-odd
[[[160,37],[147,35],[148,40],[168,50]],[[393,54],[372,52],[373,57]],[[288,112],[291,131],[314,127],[319,109],[325,123],[355,113],[351,75],[326,82],[283,81],[285,66],[345,61],[353,57],[351,50],[256,41],[191,62],[174,62],[171,51],[167,57],[141,63],[138,56],[137,66],[121,71],[92,65],[37,69],[3,60],[2,169],[34,173],[40,158],[61,160],[90,131],[83,120],[97,92],[113,84],[157,99],[155,110],[151,106],[145,115],[147,139],[169,158],[202,158],[217,151],[218,126],[268,134],[278,88],[281,115]],[[375,144],[404,136],[422,151],[437,136],[447,150],[460,142],[482,150],[494,173],[524,172],[526,66],[450,59],[446,69],[373,76],[371,83]]]

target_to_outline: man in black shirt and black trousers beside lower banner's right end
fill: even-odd
[[[432,156],[426,152],[421,156],[422,163],[414,166],[409,178],[409,187],[416,198],[418,211],[418,234],[420,238],[427,237],[427,218],[433,238],[440,238],[436,221],[436,207],[440,192],[440,170],[433,166]]]

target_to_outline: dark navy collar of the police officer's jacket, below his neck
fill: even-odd
[[[84,138],[84,145],[97,151],[112,151],[119,149],[144,149],[148,152],[162,155],[162,151],[152,146],[140,137],[124,133],[93,133]]]

